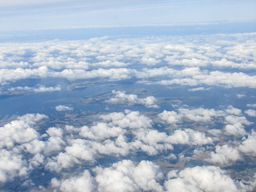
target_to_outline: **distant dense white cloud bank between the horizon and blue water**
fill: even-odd
[[[69,80],[139,78],[164,85],[255,88],[255,76],[245,72],[256,69],[253,35],[215,34],[210,39],[199,35],[200,38],[193,36],[191,41],[188,37],[175,40],[158,37],[4,43],[0,48],[0,83],[47,77]],[[230,37],[232,43],[225,40]],[[33,54],[27,57],[30,52]],[[138,63],[146,68],[138,67]],[[177,65],[179,70],[174,67]],[[229,72],[232,68],[242,72]],[[162,81],[155,82],[156,77]],[[39,89],[42,90],[46,91]]]

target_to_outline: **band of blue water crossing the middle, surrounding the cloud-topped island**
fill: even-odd
[[[52,80],[52,79],[51,79]],[[24,81],[21,81],[22,84]],[[50,85],[47,79],[44,80],[45,85]],[[54,83],[62,82],[61,79],[56,80]],[[246,110],[246,104],[254,103],[255,89],[248,88],[222,88],[210,87],[210,90],[194,91],[191,92],[190,86],[161,86],[161,85],[145,85],[134,81],[126,82],[97,82],[92,83],[91,86],[83,87],[77,90],[66,90],[69,82],[62,82],[62,90],[45,93],[25,93],[18,95],[0,95],[0,114],[27,114],[27,113],[58,113],[55,106],[66,105],[73,106],[74,110],[86,111],[122,111],[129,110],[147,110],[162,112],[162,110],[174,110],[173,105],[187,105],[192,108],[204,107],[207,109],[216,108],[220,106],[234,106],[241,110]],[[18,82],[16,86],[20,85]],[[34,80],[26,80],[29,86],[34,85]],[[207,87],[206,87],[207,88]],[[159,108],[146,108],[142,105],[109,105],[105,102],[106,97],[111,97],[112,90],[125,90],[127,94],[134,94],[136,89],[143,89],[141,98],[147,96],[154,96],[160,101]],[[245,98],[238,98],[237,94],[245,94]],[[102,98],[103,95],[103,98]],[[105,95],[105,98],[104,98]],[[107,96],[106,96],[107,95]],[[85,104],[81,99],[97,98],[94,102]],[[103,100],[101,100],[101,99]],[[105,99],[105,100],[104,100]],[[172,102],[179,100],[180,102]]]

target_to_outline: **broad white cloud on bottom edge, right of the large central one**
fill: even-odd
[[[165,182],[167,191],[246,191],[250,188],[234,181],[218,166],[195,166],[171,171]],[[251,189],[250,189],[251,190]]]

